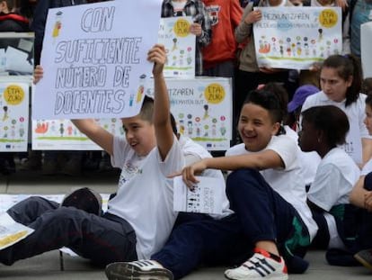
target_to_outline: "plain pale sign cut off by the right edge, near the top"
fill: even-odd
[[[372,13],[372,12],[371,12]],[[360,55],[363,68],[363,77],[372,77],[372,22],[360,25]]]

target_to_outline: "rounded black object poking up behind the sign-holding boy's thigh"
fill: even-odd
[[[95,215],[102,214],[102,197],[92,189],[83,187],[66,194],[61,206],[75,207]]]

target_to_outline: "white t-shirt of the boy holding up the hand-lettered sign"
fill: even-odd
[[[112,166],[122,170],[108,212],[129,222],[136,231],[137,257],[149,258],[164,246],[177,217],[173,212],[173,179],[166,176],[184,166],[180,143],[174,138],[162,161],[157,148],[138,157],[125,139],[115,137],[113,155]]]

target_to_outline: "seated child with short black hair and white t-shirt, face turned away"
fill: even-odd
[[[315,106],[302,113],[299,144],[322,158],[307,199],[318,225],[313,244],[321,248],[347,249],[356,237],[356,208],[349,195],[360,170],[352,158],[338,148],[345,142],[350,124],[347,115],[333,105]],[[327,255],[328,256],[328,255]],[[327,257],[332,264],[332,259]]]

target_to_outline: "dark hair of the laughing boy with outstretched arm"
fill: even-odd
[[[252,90],[245,98],[244,104],[256,104],[261,106],[269,112],[272,122],[279,122],[281,124],[284,115],[287,115],[287,104],[281,104],[281,100],[276,93],[276,91],[266,90],[266,87],[261,90]],[[286,109],[283,110],[283,108]],[[278,135],[279,134],[286,134],[286,131],[282,126],[278,131]]]

